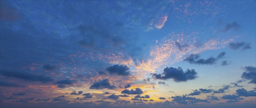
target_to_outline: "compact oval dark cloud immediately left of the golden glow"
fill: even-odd
[[[117,75],[121,75],[121,76],[128,76],[130,75],[130,72],[128,71],[130,68],[127,67],[126,65],[113,65],[108,67],[106,70],[110,73],[110,74],[117,74]]]

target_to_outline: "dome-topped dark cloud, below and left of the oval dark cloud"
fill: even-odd
[[[103,88],[108,88],[108,89],[114,89],[115,86],[111,85],[108,79],[105,79],[103,81],[98,81],[90,85],[90,89],[103,89]]]

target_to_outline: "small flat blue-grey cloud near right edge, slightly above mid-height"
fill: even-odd
[[[242,50],[247,50],[247,49],[251,49],[251,46],[249,43],[245,43],[245,42],[231,42],[229,43],[229,47],[232,50],[237,50],[242,48]]]

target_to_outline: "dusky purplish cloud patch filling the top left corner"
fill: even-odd
[[[12,7],[8,1],[0,0],[0,20],[14,22],[23,18],[23,14],[20,14],[17,8]]]

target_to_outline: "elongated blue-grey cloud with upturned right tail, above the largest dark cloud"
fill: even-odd
[[[221,52],[216,58],[209,57],[207,59],[201,58],[199,59],[199,54],[190,54],[184,61],[189,62],[190,64],[207,64],[212,65],[217,62],[218,59],[222,58],[226,53]]]

